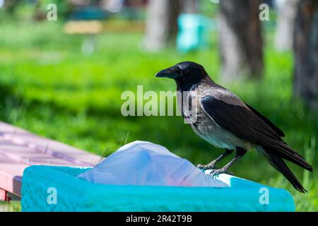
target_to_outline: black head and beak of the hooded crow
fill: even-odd
[[[206,78],[206,76],[208,76],[208,73],[206,73],[204,67],[192,61],[180,62],[155,74],[155,77],[158,78],[175,79],[177,85],[181,88],[189,88]]]

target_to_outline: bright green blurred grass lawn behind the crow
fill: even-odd
[[[135,140],[164,145],[194,165],[207,163],[220,154],[183,124],[181,117],[120,114],[124,90],[136,91],[136,85],[143,85],[144,92],[175,90],[172,81],[154,78],[154,74],[179,61],[203,64],[220,82],[216,34],[212,35],[209,49],[179,54],[174,49],[143,52],[143,36],[138,32],[105,32],[97,37],[97,52],[84,57],[84,37],[64,34],[59,23],[2,22],[0,26],[0,120],[105,156]],[[317,114],[293,99],[293,56],[290,52],[275,52],[272,34],[267,36],[264,80],[223,85],[283,129],[285,141],[307,155],[315,168]],[[318,210],[317,173],[307,174],[299,167],[291,167],[302,179],[307,194],[296,192],[256,152],[242,158],[232,172],[288,189],[298,211]]]

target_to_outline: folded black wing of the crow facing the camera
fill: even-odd
[[[276,155],[305,169],[312,169],[302,156],[288,147],[278,133],[252,110],[239,105],[230,105],[211,95],[201,97],[201,106],[218,126],[230,131],[235,136],[261,145],[266,150],[271,150]]]

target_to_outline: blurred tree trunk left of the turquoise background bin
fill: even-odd
[[[150,0],[144,47],[148,51],[159,51],[175,42],[179,0]]]

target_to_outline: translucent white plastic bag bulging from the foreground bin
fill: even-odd
[[[78,177],[98,184],[228,186],[167,148],[146,141],[124,145]]]

